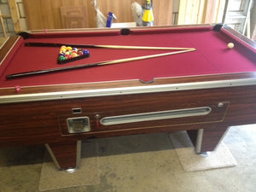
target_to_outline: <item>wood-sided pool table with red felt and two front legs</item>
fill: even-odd
[[[26,43],[193,48],[181,54],[7,79],[168,49],[84,48],[58,64],[60,47]],[[234,44],[229,49],[228,44]],[[85,47],[85,45],[84,45]],[[42,30],[0,50],[0,146],[45,144],[59,169],[79,166],[81,141],[187,131],[195,153],[212,151],[231,125],[256,123],[256,44],[229,26]]]

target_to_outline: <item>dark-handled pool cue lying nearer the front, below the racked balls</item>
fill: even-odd
[[[182,53],[195,51],[195,50],[196,49],[179,50],[175,52],[168,52],[168,53],[162,53],[162,54],[156,54],[156,55],[144,55],[144,56],[137,56],[137,57],[131,57],[131,58],[125,58],[125,59],[112,60],[112,61],[101,61],[96,63],[82,64],[79,66],[57,67],[57,68],[49,68],[49,69],[43,69],[43,70],[31,71],[31,72],[25,72],[25,73],[14,73],[14,74],[7,75],[6,79],[22,78],[22,77],[44,74],[44,73],[55,73],[55,72],[79,69],[84,67],[112,65],[112,64],[123,63],[128,61],[139,61],[139,60],[151,59],[151,58],[160,57],[160,56],[182,54]]]

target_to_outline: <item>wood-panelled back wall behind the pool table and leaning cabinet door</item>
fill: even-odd
[[[96,9],[106,17],[117,16],[116,22],[132,22],[131,3],[143,0],[23,0],[28,29],[61,29],[61,7],[84,6],[86,25],[96,27]],[[225,0],[180,0],[178,25],[221,22]],[[172,25],[173,0],[153,0],[154,26]],[[63,17],[62,17],[63,18]],[[63,23],[63,22],[62,22]],[[79,22],[78,22],[79,23]],[[79,26],[78,26],[79,27]],[[80,26],[83,27],[83,26]]]

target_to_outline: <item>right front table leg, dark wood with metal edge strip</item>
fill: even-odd
[[[229,126],[226,124],[209,125],[207,129],[187,131],[192,143],[195,146],[195,152],[198,154],[213,151],[218,147]]]

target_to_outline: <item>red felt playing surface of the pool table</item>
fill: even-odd
[[[67,33],[68,34],[68,33]],[[236,38],[227,36],[224,32],[212,31],[212,26],[204,26],[197,30],[189,29],[134,31],[130,35],[79,35],[59,36],[34,35],[33,38],[20,40],[0,66],[1,87],[45,84],[73,84],[87,82],[102,82],[127,79],[143,79],[145,81],[177,76],[193,76],[217,73],[240,73],[256,70],[255,54],[252,49],[245,49]],[[103,34],[103,33],[102,33]],[[179,55],[169,55],[143,61],[131,61],[102,67],[90,67],[61,73],[50,73],[22,79],[5,79],[11,73],[42,70],[60,67],[56,64],[58,47],[26,47],[25,42],[45,42],[61,44],[112,44],[160,47],[195,48],[196,51]],[[235,44],[234,49],[228,49],[227,44]],[[170,50],[141,49],[89,49],[90,58],[68,63],[65,66],[112,61],[141,55],[154,55]],[[176,50],[173,50],[176,51]]]

